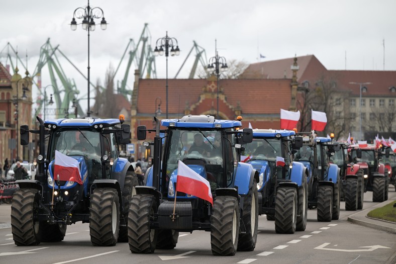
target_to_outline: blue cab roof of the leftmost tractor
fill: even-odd
[[[60,119],[47,119],[44,121],[44,126],[51,128],[52,126],[58,127],[94,127],[95,125],[102,127],[111,127],[115,125],[120,125],[121,122],[119,119],[83,119],[83,118],[60,118]],[[51,125],[51,127],[49,126]]]

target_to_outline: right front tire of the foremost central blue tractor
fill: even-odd
[[[233,256],[239,235],[239,205],[235,197],[218,196],[211,217],[211,246],[214,255]]]

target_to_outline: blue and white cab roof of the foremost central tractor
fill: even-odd
[[[241,127],[242,123],[236,120],[215,119],[210,115],[188,115],[181,119],[163,119],[161,125],[165,127],[233,128]]]

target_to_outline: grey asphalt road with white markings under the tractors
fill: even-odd
[[[365,193],[363,210],[379,206]],[[393,186],[388,202],[396,199]],[[37,246],[16,246],[11,228],[10,205],[0,205],[0,263],[391,263],[396,260],[396,235],[348,221],[356,211],[345,211],[341,202],[339,220],[317,222],[316,210],[309,210],[307,229],[294,234],[276,234],[273,221],[259,217],[254,251],[235,256],[213,256],[210,233],[180,233],[175,249],[153,254],[132,254],[128,243],[113,247],[92,246],[88,224],[67,227],[64,241]],[[396,224],[394,224],[396,226]]]

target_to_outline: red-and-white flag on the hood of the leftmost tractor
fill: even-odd
[[[57,180],[57,175],[59,181],[73,181],[82,185],[78,161],[55,150],[54,180]]]

